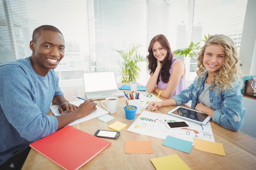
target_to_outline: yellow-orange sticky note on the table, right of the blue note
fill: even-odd
[[[217,155],[226,156],[223,144],[216,143],[216,142],[204,141],[204,140],[195,138],[194,149],[202,150],[204,152],[209,152]]]

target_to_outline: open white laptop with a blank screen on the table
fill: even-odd
[[[87,99],[124,96],[124,92],[118,89],[114,71],[83,73],[83,86]]]

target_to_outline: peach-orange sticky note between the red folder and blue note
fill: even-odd
[[[151,141],[126,141],[124,153],[153,153]]]

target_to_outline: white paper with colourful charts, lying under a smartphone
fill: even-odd
[[[166,139],[167,135],[169,135],[193,143],[195,138],[215,142],[210,123],[200,126],[199,124],[185,121],[189,128],[169,129],[166,126],[166,122],[171,121],[184,120],[167,114],[143,111],[127,131],[160,139]]]

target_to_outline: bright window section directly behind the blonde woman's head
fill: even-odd
[[[192,41],[203,46],[204,35],[224,34],[232,38],[239,51],[247,0],[195,0]],[[191,60],[189,80],[197,71]]]

